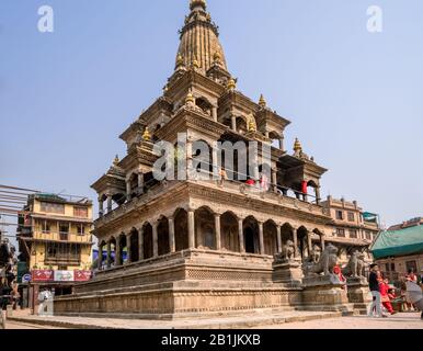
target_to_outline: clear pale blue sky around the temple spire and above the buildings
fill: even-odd
[[[0,0],[0,183],[89,195],[172,73],[187,0]],[[423,215],[423,1],[208,0],[239,90],[293,122],[323,194]],[[55,10],[55,33],[37,9]],[[369,5],[384,32],[367,32]]]

